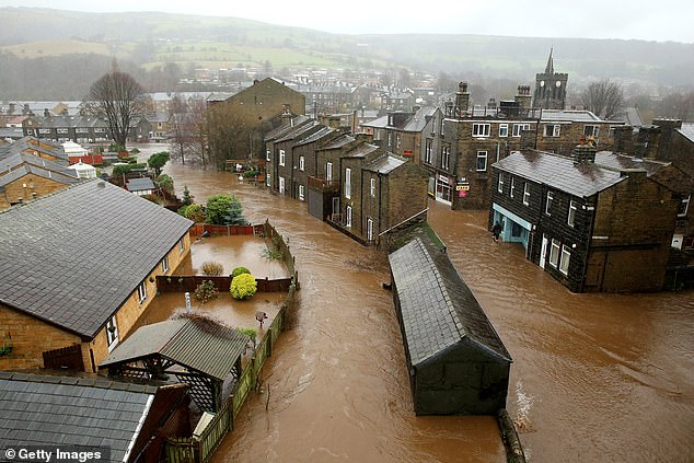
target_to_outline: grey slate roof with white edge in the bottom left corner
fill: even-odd
[[[0,371],[0,449],[108,447],[111,461],[122,462],[155,393],[106,379]]]

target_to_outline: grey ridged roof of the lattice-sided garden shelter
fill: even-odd
[[[99,367],[160,355],[218,380],[227,378],[245,351],[248,336],[205,319],[176,319],[144,325],[118,345]]]

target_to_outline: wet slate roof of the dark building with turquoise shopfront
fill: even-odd
[[[620,172],[541,151],[516,151],[493,164],[502,171],[586,198],[623,180]]]

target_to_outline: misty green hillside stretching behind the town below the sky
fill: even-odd
[[[81,79],[68,79],[72,88],[56,86],[58,93],[83,94],[113,57],[126,70],[165,70],[174,63],[182,72],[238,66],[275,70],[407,67],[521,83],[544,68],[551,47],[555,68],[568,72],[578,84],[591,78],[618,78],[651,88],[694,82],[693,44],[465,34],[339,35],[238,18],[0,8],[0,99],[38,92],[39,83],[31,77],[24,82],[8,79],[33,73],[56,82],[60,79],[53,67],[59,61],[67,68],[65,62],[73,63],[72,68],[84,66],[85,57],[90,68],[83,69]],[[154,81],[163,86],[166,80]]]

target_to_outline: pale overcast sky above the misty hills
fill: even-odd
[[[235,16],[339,34],[443,33],[694,43],[692,0],[0,0],[0,7]]]

